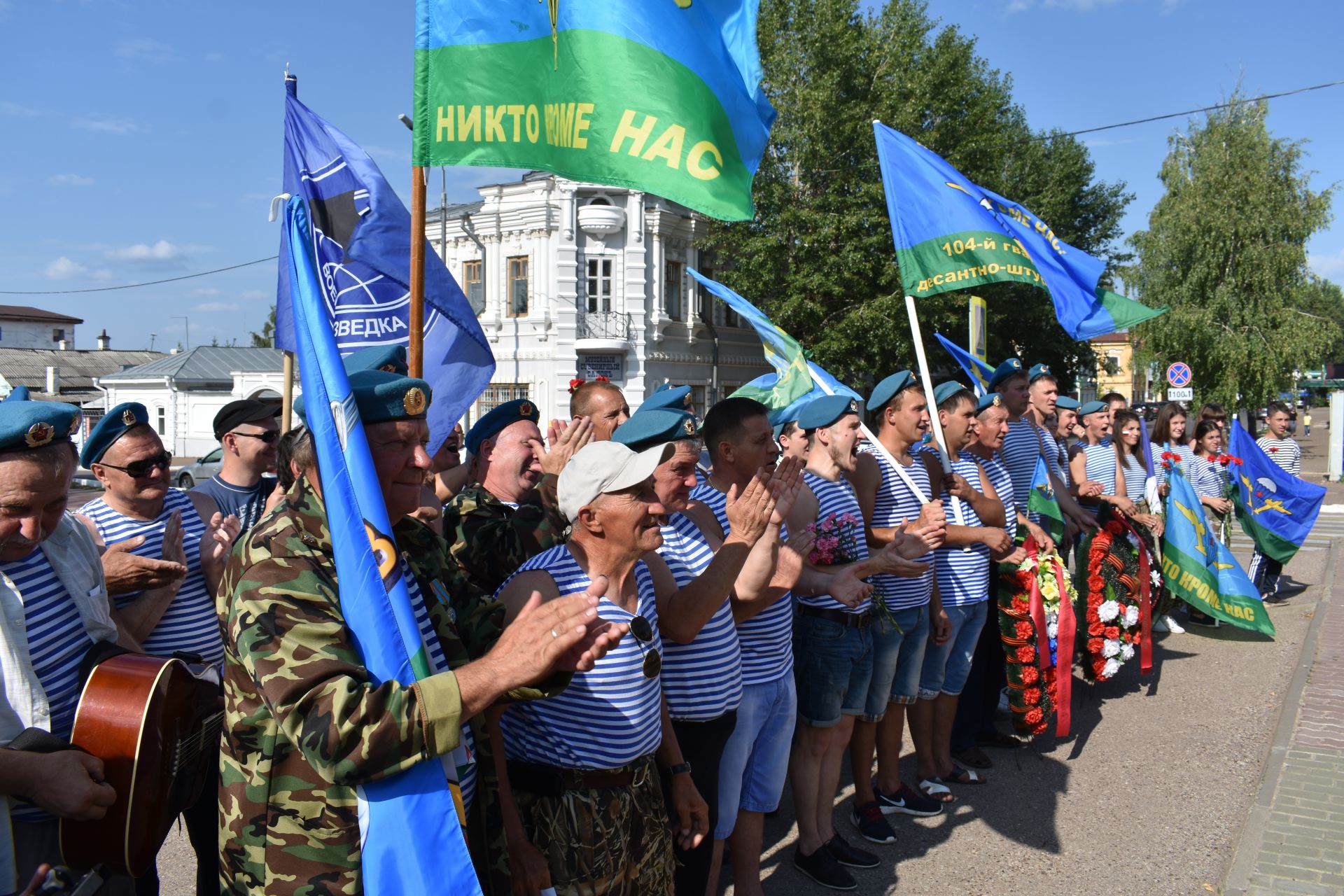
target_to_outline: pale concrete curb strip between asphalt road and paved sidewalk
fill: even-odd
[[[1316,641],[1321,631],[1321,621],[1329,610],[1331,595],[1335,591],[1341,544],[1344,544],[1344,539],[1335,539],[1331,543],[1331,556],[1325,562],[1325,575],[1321,576],[1321,596],[1316,602],[1312,622],[1302,638],[1302,652],[1297,657],[1297,669],[1293,670],[1293,678],[1284,693],[1278,724],[1274,727],[1274,739],[1270,743],[1269,756],[1265,759],[1265,772],[1261,778],[1261,786],[1255,791],[1255,803],[1246,817],[1246,823],[1242,825],[1231,865],[1223,877],[1222,892],[1224,896],[1246,896],[1251,873],[1255,870],[1255,860],[1265,841],[1265,826],[1269,823],[1270,806],[1274,803],[1274,791],[1278,789],[1279,778],[1284,774],[1284,760],[1292,748],[1293,732],[1297,729],[1302,690],[1306,688],[1312,666],[1316,662]]]

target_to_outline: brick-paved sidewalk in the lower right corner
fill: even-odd
[[[1228,895],[1344,893],[1344,563],[1332,552]]]

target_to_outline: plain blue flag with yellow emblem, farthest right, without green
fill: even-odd
[[[1321,512],[1325,486],[1301,480],[1274,463],[1250,433],[1232,420],[1227,450],[1241,458],[1232,467],[1236,519],[1261,553],[1288,563],[1297,553]]]

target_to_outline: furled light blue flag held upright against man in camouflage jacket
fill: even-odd
[[[290,251],[280,265],[289,275],[304,406],[321,470],[341,615],[374,685],[395,680],[409,686],[430,674],[429,654],[401,576],[374,458],[324,308],[308,203],[300,196],[285,207],[285,231]],[[481,892],[462,840],[453,787],[442,759],[431,758],[356,789],[366,893]]]

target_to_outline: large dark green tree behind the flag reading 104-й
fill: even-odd
[[[905,290],[878,172],[872,120],[917,137],[972,180],[1030,207],[1074,246],[1113,261],[1124,184],[1095,180],[1086,146],[1034,133],[1011,79],[974,40],[938,28],[925,5],[890,0],[864,15],[856,0],[763,0],[765,86],[778,110],[753,195],[751,222],[712,222],[700,249],[716,278],[762,308],[818,364],[855,386],[914,365]],[[989,356],[1021,353],[1063,372],[1095,359],[1055,321],[1039,289],[996,283]],[[969,302],[919,301],[930,365],[960,375],[933,345],[941,329],[966,340]]]

